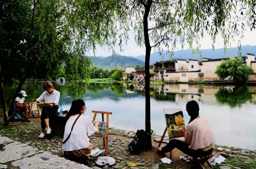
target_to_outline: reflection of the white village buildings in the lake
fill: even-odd
[[[231,89],[235,86],[231,85],[189,85],[189,84],[163,84],[151,85],[150,95],[156,100],[168,100],[173,102],[187,102],[190,100],[200,101],[203,103],[215,104],[218,103],[215,94],[222,88]],[[126,87],[125,87],[126,88]],[[144,95],[144,85],[136,84],[134,89],[127,86],[126,93]],[[256,103],[256,86],[247,86],[249,94],[252,95],[252,102]],[[243,95],[243,93],[238,94]],[[240,96],[238,96],[240,97]],[[241,98],[240,98],[241,99]],[[228,102],[228,100],[227,100]]]

